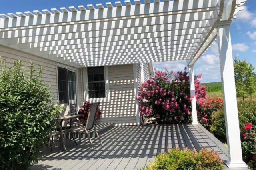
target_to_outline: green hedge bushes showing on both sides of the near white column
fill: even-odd
[[[254,146],[252,141],[244,140],[244,126],[249,123],[252,124],[253,129],[256,129],[256,101],[238,102],[238,117],[242,140],[241,145],[243,158],[245,162],[248,162],[252,158],[252,153],[250,150],[252,150]],[[210,131],[214,134],[214,136],[223,142],[226,141],[225,117],[223,109],[216,112],[214,116],[212,116],[212,125]]]

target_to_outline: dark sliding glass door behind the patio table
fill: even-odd
[[[77,111],[76,72],[58,67],[59,102],[68,103],[70,114]]]

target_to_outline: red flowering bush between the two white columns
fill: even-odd
[[[205,128],[210,129],[212,114],[223,107],[223,100],[220,98],[203,100],[204,98],[196,98],[196,108],[198,114],[198,122]]]

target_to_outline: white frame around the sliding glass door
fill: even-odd
[[[77,101],[77,108],[76,113],[78,113],[78,110],[80,108],[80,101],[79,101],[79,90],[78,90],[78,69],[70,66],[66,66],[64,64],[56,63],[56,80],[57,80],[57,102],[59,102],[59,82],[58,82],[58,67],[65,68],[67,71],[72,71],[76,73],[76,101]],[[68,91],[69,92],[69,91]],[[68,100],[69,100],[69,94],[68,94]],[[70,112],[70,110],[68,110]]]

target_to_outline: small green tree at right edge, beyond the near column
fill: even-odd
[[[237,97],[246,98],[256,92],[254,67],[246,60],[234,60],[234,74]]]

